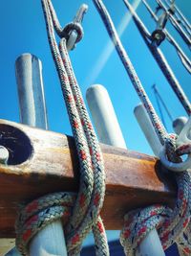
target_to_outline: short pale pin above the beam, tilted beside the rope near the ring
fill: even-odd
[[[134,114],[138,120],[138,125],[143,131],[151,149],[156,156],[159,156],[159,151],[161,150],[161,144],[159,142],[158,135],[151,123],[151,120],[146,112],[146,109],[142,104],[139,104],[134,109]]]

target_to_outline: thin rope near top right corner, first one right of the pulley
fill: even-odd
[[[164,4],[160,0],[156,0],[156,1],[158,3],[159,7],[164,12],[167,12],[169,14],[169,20],[170,20],[171,24],[176,29],[176,31],[180,34],[181,38],[184,40],[184,42],[187,44],[187,46],[190,48],[190,46],[191,46],[191,38],[188,35],[186,35],[186,33],[182,30],[182,28],[180,27],[180,24],[177,22],[177,20],[171,14],[171,12],[169,12],[167,10],[167,8],[164,6]]]

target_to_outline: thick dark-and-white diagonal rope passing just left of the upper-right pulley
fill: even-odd
[[[163,72],[164,76],[166,77],[167,81],[170,83],[172,89],[176,93],[177,97],[180,100],[181,105],[185,108],[188,115],[191,114],[191,105],[189,100],[187,99],[186,95],[184,94],[179,81],[176,79],[172,69],[170,68],[169,64],[167,63],[166,59],[164,58],[163,54],[158,48],[158,42],[153,40],[152,35],[149,34],[144,24],[138,17],[138,14],[134,11],[132,6],[129,4],[127,0],[123,0],[128,10],[131,12],[133,19],[138,27],[138,31],[140,35],[142,35],[146,45],[148,46],[149,50],[151,51],[154,58],[156,58],[161,71]],[[160,40],[160,39],[159,39]]]

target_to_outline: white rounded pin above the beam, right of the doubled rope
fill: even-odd
[[[88,88],[86,99],[101,143],[126,149],[117,116],[107,90],[100,84]]]

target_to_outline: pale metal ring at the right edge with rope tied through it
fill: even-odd
[[[166,147],[163,146],[161,151],[159,152],[159,159],[163,166],[165,166],[168,170],[174,172],[184,172],[191,168],[191,153],[188,154],[188,157],[185,161],[180,163],[170,162],[166,157]]]

